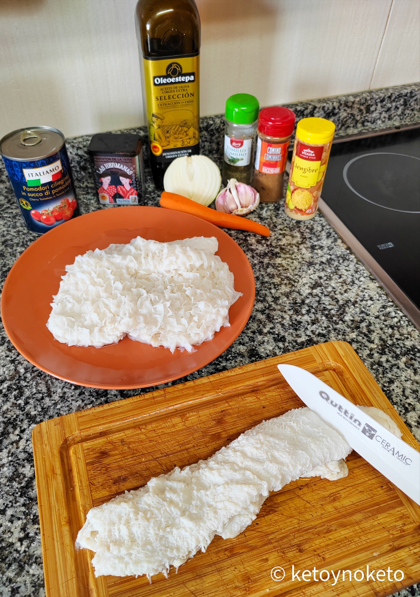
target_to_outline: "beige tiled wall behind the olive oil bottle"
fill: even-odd
[[[157,0],[158,1],[158,0]],[[0,136],[143,124],[136,0],[0,1]],[[419,0],[197,0],[201,114],[420,79]]]

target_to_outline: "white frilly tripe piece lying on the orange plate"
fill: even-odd
[[[241,296],[217,239],[146,241],[87,251],[66,266],[53,297],[48,330],[69,346],[113,344],[128,335],[189,352],[229,325]]]

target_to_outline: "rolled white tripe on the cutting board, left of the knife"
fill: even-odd
[[[270,491],[299,477],[347,476],[347,442],[309,408],[242,433],[207,460],[152,478],[92,508],[76,545],[93,550],[96,576],[167,575],[215,535],[236,537]],[[280,515],[280,512],[279,512]]]

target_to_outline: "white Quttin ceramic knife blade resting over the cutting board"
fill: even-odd
[[[277,367],[306,406],[340,433],[376,470],[420,504],[418,451],[309,371],[295,365]]]

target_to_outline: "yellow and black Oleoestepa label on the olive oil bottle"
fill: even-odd
[[[189,155],[188,148],[200,141],[199,56],[143,57],[143,67],[151,152],[164,152],[166,158]]]

